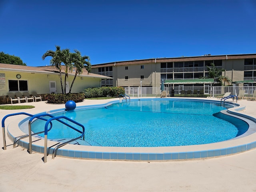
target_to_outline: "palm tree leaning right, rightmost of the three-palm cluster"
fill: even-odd
[[[92,65],[90,64],[89,56],[86,56],[86,55],[82,56],[80,51],[78,51],[78,50],[74,50],[74,52],[75,53],[73,53],[72,58],[73,58],[74,67],[76,67],[76,73],[75,73],[74,79],[72,81],[72,84],[70,86],[69,93],[71,93],[71,89],[76,80],[77,74],[82,74],[83,68],[85,68],[89,73],[91,70],[91,67],[92,67]]]

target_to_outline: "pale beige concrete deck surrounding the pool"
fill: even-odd
[[[210,100],[217,100],[207,98]],[[106,103],[84,100],[77,106]],[[15,112],[36,114],[64,108],[45,102],[27,110],[0,110],[0,118]],[[242,114],[256,118],[256,102],[238,100]],[[17,104],[15,104],[17,105]],[[7,118],[6,125],[16,122]],[[2,136],[0,143],[3,143]],[[218,158],[179,161],[111,161],[58,157],[47,163],[43,154],[28,154],[21,147],[0,150],[0,191],[256,191],[256,149]],[[3,144],[2,144],[3,145]]]

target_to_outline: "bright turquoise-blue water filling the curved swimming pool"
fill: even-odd
[[[246,132],[246,122],[220,113],[229,107],[232,106],[195,100],[131,100],[53,115],[64,115],[84,125],[86,142],[80,141],[80,144],[184,146],[229,140]],[[32,131],[44,130],[44,124],[44,121],[36,120],[32,123]],[[48,132],[48,139],[60,140],[79,135],[56,121]]]

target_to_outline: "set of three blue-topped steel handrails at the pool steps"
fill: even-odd
[[[30,120],[29,120],[29,122],[28,122],[28,132],[29,132],[29,134],[28,134],[28,135],[23,135],[23,136],[17,137],[17,138],[15,139],[15,141],[14,141],[13,147],[15,148],[16,143],[17,143],[20,139],[29,137],[28,151],[29,151],[30,154],[32,154],[32,136],[44,132],[44,163],[47,162],[47,135],[48,135],[48,131],[50,131],[50,130],[52,129],[52,121],[53,121],[53,120],[57,120],[58,122],[60,122],[60,123],[62,123],[62,124],[64,124],[64,125],[66,125],[66,126],[72,128],[73,130],[76,130],[77,132],[81,133],[81,135],[80,135],[79,137],[74,138],[74,139],[71,139],[71,140],[69,140],[69,141],[67,141],[67,142],[58,144],[58,145],[54,148],[54,150],[53,150],[53,152],[52,152],[52,159],[54,159],[54,157],[56,156],[56,152],[57,152],[58,148],[60,148],[60,147],[62,147],[62,146],[64,146],[64,145],[66,145],[66,144],[68,144],[68,143],[70,143],[70,142],[73,142],[73,141],[75,141],[75,140],[78,140],[78,139],[80,139],[80,138],[83,138],[83,140],[84,140],[84,131],[85,131],[84,126],[83,126],[82,124],[80,124],[80,123],[78,123],[78,122],[76,122],[76,121],[74,121],[74,120],[72,120],[72,119],[66,117],[66,116],[57,116],[57,117],[54,117],[53,115],[48,114],[48,113],[46,113],[46,114],[32,115],[32,114],[28,114],[28,113],[25,113],[25,112],[20,112],[20,113],[8,114],[8,115],[4,116],[4,118],[2,119],[2,132],[3,132],[4,150],[6,150],[6,137],[5,137],[5,125],[4,125],[4,121],[6,120],[6,118],[8,118],[8,117],[10,117],[10,116],[16,116],[16,115],[21,115],[21,114],[27,115],[27,116],[31,116],[31,118],[30,118]],[[42,116],[49,116],[50,119],[42,118]],[[37,132],[37,133],[32,134],[32,131],[31,131],[31,123],[32,123],[32,121],[33,121],[35,118],[46,121],[46,124],[45,124],[45,126],[44,126],[44,131],[41,131],[41,132]],[[64,122],[64,121],[62,121],[62,120],[60,120],[60,119],[63,119],[63,118],[66,119],[66,120],[68,120],[68,121],[70,121],[70,122],[72,122],[72,123],[74,123],[74,124],[76,124],[76,125],[78,125],[78,126],[80,126],[80,127],[82,127],[82,131],[81,131],[81,130],[78,130],[77,128],[71,126],[70,124],[68,124],[68,123],[66,123],[66,122]],[[49,124],[50,124],[50,128],[48,128],[48,125],[49,125]],[[50,150],[50,148],[49,148],[49,150]]]

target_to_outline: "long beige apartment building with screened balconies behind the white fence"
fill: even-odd
[[[150,58],[92,65],[92,73],[112,77],[101,81],[101,86],[159,87],[212,86],[208,76],[211,63],[222,68],[228,84],[256,86],[256,54],[204,55],[176,58]]]

